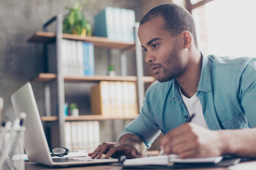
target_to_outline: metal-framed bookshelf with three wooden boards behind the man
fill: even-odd
[[[55,33],[48,32],[47,27],[56,22]],[[139,23],[135,24],[135,35],[137,35]],[[61,46],[63,39],[77,40],[83,42],[93,43],[95,48],[103,49],[119,49],[135,50],[136,57],[136,69],[137,76],[64,76],[62,71],[62,60],[61,60]],[[141,108],[142,100],[144,98],[144,83],[152,83],[155,81],[154,77],[143,76],[143,57],[142,48],[139,43],[139,39],[135,36],[135,42],[118,42],[110,41],[105,37],[86,36],[81,37],[79,35],[64,34],[62,33],[62,14],[54,16],[52,19],[47,21],[43,25],[43,31],[35,32],[28,40],[30,43],[41,43],[44,45],[44,53],[46,54],[46,46],[49,43],[56,44],[56,59],[57,59],[57,74],[53,73],[39,73],[32,81],[42,82],[45,84],[44,87],[44,108],[46,116],[42,116],[43,122],[58,122],[58,133],[59,133],[59,145],[64,146],[64,123],[65,121],[87,121],[87,120],[126,120],[135,119],[136,116],[125,116],[125,117],[109,117],[102,115],[80,115],[78,117],[64,116],[64,103],[65,103],[65,82],[100,82],[100,81],[130,81],[137,83],[138,92],[138,106]],[[121,63],[122,67],[122,63]],[[57,82],[57,100],[58,100],[58,117],[51,116],[50,114],[50,83]]]

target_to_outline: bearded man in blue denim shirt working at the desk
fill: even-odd
[[[256,60],[205,56],[192,16],[175,4],[151,9],[138,37],[158,81],[147,89],[140,115],[119,143],[104,142],[88,155],[136,158],[162,132],[161,148],[181,158],[256,157]]]

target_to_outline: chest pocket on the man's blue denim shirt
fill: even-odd
[[[231,119],[225,121],[224,123],[220,123],[222,129],[244,129],[249,128],[248,124],[243,119],[240,112],[235,114]]]

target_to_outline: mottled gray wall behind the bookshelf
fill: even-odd
[[[14,111],[11,104],[10,96],[18,90],[31,78],[43,72],[43,46],[42,44],[28,43],[27,40],[36,31],[42,30],[42,25],[47,20],[58,13],[65,14],[66,6],[73,7],[77,1],[71,0],[1,0],[0,1],[0,96],[4,99],[4,107],[2,112],[2,120],[14,120]],[[80,1],[83,2],[83,1]],[[142,2],[137,0],[91,0],[87,3],[83,10],[87,20],[94,27],[94,16],[106,6],[120,7],[135,10],[136,21],[142,18]],[[106,56],[107,51],[99,50],[95,52],[95,73],[104,74],[107,71]],[[112,50],[114,54],[111,62],[117,66],[119,52]],[[128,70],[129,75],[136,75],[135,53],[127,52],[129,60],[127,63],[132,68]],[[98,56],[96,56],[96,54]],[[98,65],[97,65],[98,64]],[[81,114],[89,114],[90,112],[90,96],[89,88],[93,84],[65,84],[66,100],[70,102],[83,100],[85,104],[79,106]],[[54,86],[54,85],[53,85]],[[44,115],[43,110],[43,84],[40,82],[32,82],[33,91],[37,101],[39,113]],[[54,87],[53,87],[54,88]],[[79,90],[75,90],[79,89]],[[81,90],[82,89],[82,90]],[[53,91],[54,93],[54,91]],[[75,94],[72,96],[71,94]],[[52,108],[55,108],[54,95],[52,97]],[[56,97],[55,97],[56,98]],[[83,113],[82,113],[83,112]],[[54,115],[54,111],[52,115]],[[101,123],[104,127],[113,124],[111,121]],[[116,125],[124,126],[123,121],[115,121]],[[125,123],[126,124],[126,123]],[[101,129],[107,129],[107,128]],[[118,132],[106,133],[102,141],[116,141]]]

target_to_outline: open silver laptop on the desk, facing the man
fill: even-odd
[[[85,157],[52,158],[30,82],[27,82],[11,95],[11,102],[16,117],[19,117],[21,112],[27,114],[24,122],[24,126],[26,127],[24,146],[29,161],[49,166],[74,166],[118,162],[118,159],[112,158],[91,159],[87,155]]]

